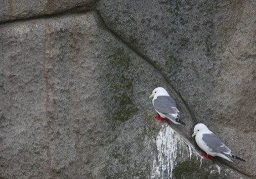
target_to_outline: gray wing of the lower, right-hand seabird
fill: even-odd
[[[230,154],[231,150],[221,142],[220,138],[214,133],[212,134],[203,134],[202,140],[205,144],[212,149],[212,152],[221,153],[221,154]]]

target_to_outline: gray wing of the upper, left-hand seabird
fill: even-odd
[[[177,106],[170,96],[157,96],[154,100],[154,108],[160,113],[177,114]]]

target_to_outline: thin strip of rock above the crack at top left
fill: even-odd
[[[0,22],[40,15],[51,15],[73,8],[76,8],[76,11],[86,10],[92,7],[93,2],[94,0],[0,0]]]

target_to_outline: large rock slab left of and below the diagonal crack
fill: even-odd
[[[148,96],[168,85],[99,22],[86,13],[1,25],[1,177],[151,175],[161,125]]]

